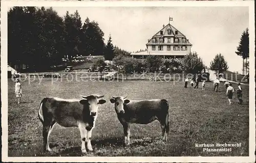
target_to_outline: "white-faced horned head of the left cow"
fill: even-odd
[[[80,100],[80,104],[83,104],[89,108],[89,113],[92,117],[95,117],[98,112],[99,104],[104,104],[106,101],[99,98],[104,97],[99,95],[81,96],[83,99]]]

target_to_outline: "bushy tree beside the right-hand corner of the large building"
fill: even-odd
[[[204,69],[203,60],[197,52],[190,52],[182,59],[182,69],[187,73],[197,74]]]

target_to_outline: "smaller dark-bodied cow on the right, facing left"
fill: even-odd
[[[163,141],[167,142],[169,132],[169,103],[164,99],[155,100],[128,100],[121,96],[110,99],[115,104],[117,118],[123,125],[124,143],[130,144],[130,125],[148,124],[158,120],[162,128]]]

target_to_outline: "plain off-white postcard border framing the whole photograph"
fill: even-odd
[[[248,157],[8,157],[8,83],[7,83],[7,12],[12,6],[45,7],[249,7],[250,89],[249,89],[249,156]],[[1,1],[1,97],[2,161],[13,162],[254,162],[255,161],[255,58],[254,1]]]

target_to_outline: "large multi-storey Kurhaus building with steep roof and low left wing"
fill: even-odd
[[[144,59],[148,55],[163,56],[169,58],[183,58],[190,52],[192,44],[188,41],[185,35],[172,25],[163,25],[163,28],[158,31],[146,43],[146,51],[131,53],[133,58]]]

